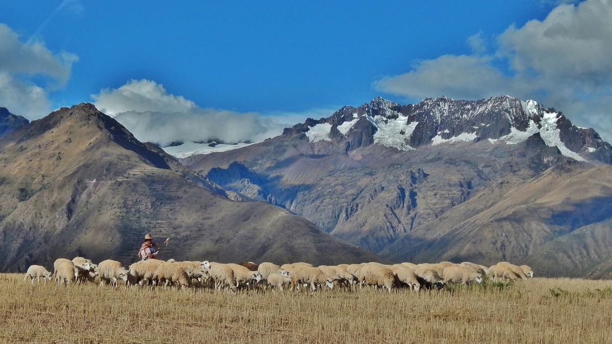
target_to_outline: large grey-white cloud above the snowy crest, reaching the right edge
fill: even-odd
[[[408,97],[440,94],[479,99],[509,94],[563,111],[612,140],[612,0],[561,3],[547,17],[496,37],[485,54],[482,34],[468,38],[471,55],[442,55],[381,78],[376,89]],[[508,65],[501,69],[499,65]]]

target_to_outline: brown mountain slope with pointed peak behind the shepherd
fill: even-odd
[[[0,271],[76,255],[131,263],[145,233],[171,238],[165,258],[379,260],[285,209],[230,200],[89,103],[0,138],[0,194]]]

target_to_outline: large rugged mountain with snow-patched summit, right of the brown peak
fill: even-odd
[[[534,258],[545,255],[539,248],[612,217],[612,190],[601,180],[611,151],[594,130],[533,101],[376,98],[262,143],[182,162],[395,261],[507,258],[555,275]],[[549,187],[575,178],[599,191],[580,199],[532,193],[545,177]]]

